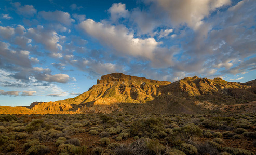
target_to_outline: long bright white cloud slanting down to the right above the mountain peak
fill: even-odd
[[[141,56],[148,59],[154,58],[154,50],[161,44],[154,38],[134,38],[124,26],[113,26],[87,19],[79,24],[84,32],[98,39],[102,44],[110,46],[118,53]]]

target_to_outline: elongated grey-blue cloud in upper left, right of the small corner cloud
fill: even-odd
[[[38,14],[46,20],[60,22],[65,25],[70,25],[71,23],[75,22],[75,20],[70,17],[69,13],[59,10],[54,12],[40,11]]]

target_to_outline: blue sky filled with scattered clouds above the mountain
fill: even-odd
[[[0,105],[73,98],[102,75],[256,79],[254,0],[1,0]]]

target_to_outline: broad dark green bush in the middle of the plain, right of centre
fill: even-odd
[[[134,121],[130,127],[130,133],[133,136],[139,135],[139,133],[144,133],[145,131],[153,134],[164,130],[164,125],[157,118],[148,118]]]

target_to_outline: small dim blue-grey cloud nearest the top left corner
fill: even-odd
[[[36,9],[33,5],[21,6],[19,2],[12,3],[12,5],[16,8],[18,14],[27,16],[33,16],[34,14],[36,14]]]

